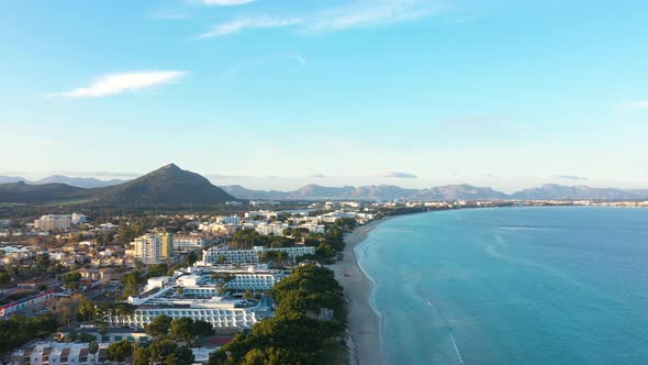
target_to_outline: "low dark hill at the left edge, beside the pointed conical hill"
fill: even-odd
[[[0,202],[40,203],[82,198],[83,189],[65,184],[0,184]]]

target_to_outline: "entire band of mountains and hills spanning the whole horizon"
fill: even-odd
[[[13,179],[13,180],[12,180]],[[18,181],[15,180],[18,179]],[[407,189],[393,185],[324,187],[306,185],[292,191],[252,190],[239,185],[217,187],[195,173],[170,164],[130,181],[53,176],[27,184],[0,177],[0,202],[43,203],[80,201],[107,206],[215,204],[236,199],[266,200],[539,200],[539,199],[648,199],[648,189],[591,188],[543,185],[507,195],[489,187],[446,185]],[[99,182],[98,182],[99,181]],[[114,185],[112,185],[114,182]],[[111,184],[110,186],[98,186]]]

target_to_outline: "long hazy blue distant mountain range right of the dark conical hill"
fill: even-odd
[[[512,195],[489,187],[472,185],[446,185],[429,189],[405,189],[393,185],[372,185],[361,187],[323,187],[306,185],[292,191],[249,190],[238,185],[224,186],[223,189],[239,199],[269,200],[536,200],[536,199],[648,199],[648,189],[628,190],[613,188],[590,188],[544,185]]]

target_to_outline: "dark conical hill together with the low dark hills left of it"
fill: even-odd
[[[120,185],[83,189],[66,184],[0,184],[0,202],[86,199],[105,206],[214,204],[236,200],[206,178],[170,164]]]

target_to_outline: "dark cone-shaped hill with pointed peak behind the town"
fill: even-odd
[[[94,189],[107,204],[213,204],[236,200],[206,178],[170,164],[134,180]]]

